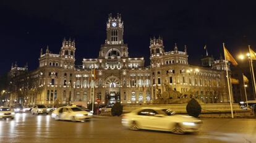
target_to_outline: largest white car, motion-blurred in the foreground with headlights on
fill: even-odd
[[[132,130],[153,129],[176,134],[198,131],[201,120],[187,115],[175,115],[170,109],[139,108],[122,116],[122,125]]]

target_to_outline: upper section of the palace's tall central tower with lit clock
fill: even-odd
[[[117,17],[112,17],[112,14],[109,14],[106,34],[105,44],[124,44],[124,23],[121,20],[121,14],[117,14]]]

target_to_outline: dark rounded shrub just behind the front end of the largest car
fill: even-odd
[[[198,117],[201,113],[201,105],[198,104],[197,100],[195,100],[194,98],[192,98],[188,103],[187,103],[187,113],[190,116],[194,116],[194,117]]]

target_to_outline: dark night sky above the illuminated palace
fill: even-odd
[[[188,46],[189,63],[200,64],[203,46],[216,59],[222,43],[236,57],[247,45],[256,50],[256,4],[250,1],[1,1],[0,73],[11,63],[38,68],[40,49],[58,54],[62,39],[75,38],[76,65],[97,58],[105,43],[108,14],[124,20],[130,57],[149,64],[150,37],[161,35],[165,51]]]

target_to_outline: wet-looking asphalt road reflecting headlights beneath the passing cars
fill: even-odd
[[[203,119],[193,134],[130,131],[119,117],[93,118],[85,123],[55,121],[50,115],[17,113],[0,120],[0,142],[256,142],[256,119]]]

